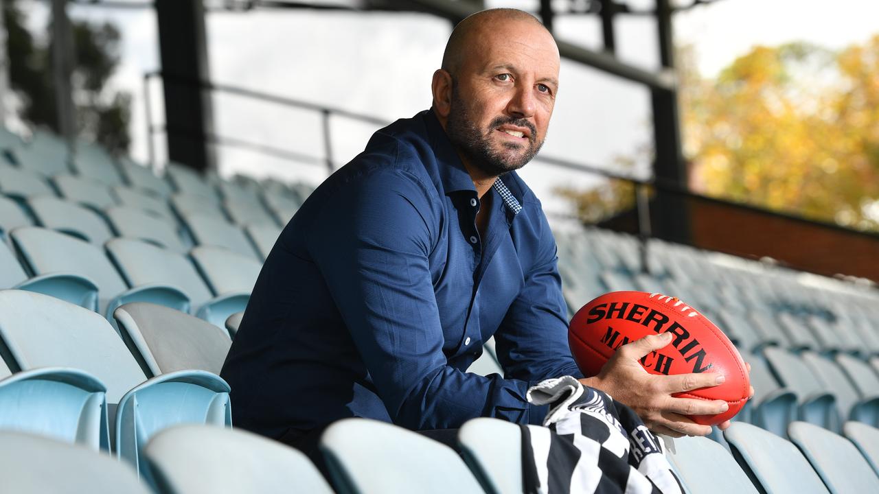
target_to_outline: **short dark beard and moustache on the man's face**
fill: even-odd
[[[467,106],[458,94],[458,84],[452,82],[451,108],[446,122],[446,134],[458,151],[467,158],[479,170],[490,177],[500,177],[510,171],[519,170],[531,161],[537,152],[541,150],[543,140],[538,141],[537,129],[527,119],[514,119],[500,116],[492,120],[489,127],[482,132],[476,128],[476,124],[470,119]],[[490,135],[496,128],[502,125],[514,125],[527,127],[531,131],[528,138],[528,147],[521,155],[514,151],[521,148],[512,142],[505,142],[503,146],[508,152],[491,149]]]

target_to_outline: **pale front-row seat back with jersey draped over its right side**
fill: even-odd
[[[522,432],[497,418],[468,420],[458,431],[461,457],[486,492],[522,492]]]

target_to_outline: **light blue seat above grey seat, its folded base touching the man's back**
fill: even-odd
[[[171,292],[169,300],[155,303],[192,313],[221,328],[226,318],[247,307],[251,289],[214,295],[193,262],[182,254],[123,238],[111,240],[106,249],[129,286],[167,286],[185,294],[185,300],[181,300]],[[247,259],[247,263],[252,262]]]

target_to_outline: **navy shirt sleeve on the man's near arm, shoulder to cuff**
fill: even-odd
[[[328,204],[310,229],[309,253],[393,421],[414,430],[476,417],[529,422],[527,381],[447,365],[428,261],[439,200],[409,173],[382,169]]]

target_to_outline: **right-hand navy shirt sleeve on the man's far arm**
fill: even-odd
[[[541,209],[536,215],[533,222],[520,223],[526,231],[519,232],[519,251],[530,251],[534,263],[494,335],[498,360],[507,377],[531,383],[563,375],[579,379],[583,373],[568,344],[556,240]]]

